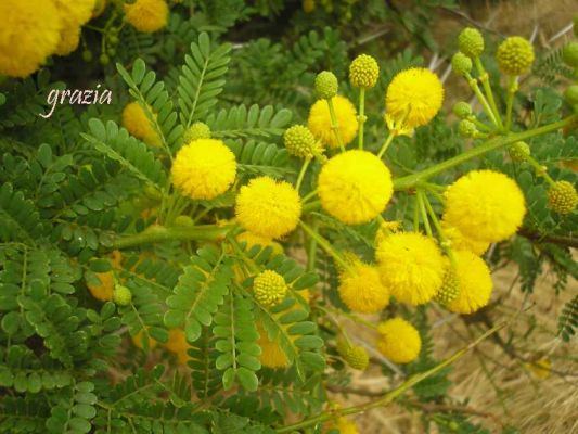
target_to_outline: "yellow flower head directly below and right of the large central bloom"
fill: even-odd
[[[377,245],[375,256],[382,282],[401,303],[422,305],[441,288],[445,260],[432,238],[416,232],[393,233]]]

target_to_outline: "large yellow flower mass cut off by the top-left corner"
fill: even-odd
[[[59,11],[47,0],[2,0],[0,16],[0,75],[27,77],[56,49]]]

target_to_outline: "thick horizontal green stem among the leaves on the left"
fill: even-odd
[[[150,226],[140,233],[120,237],[114,241],[112,250],[134,247],[141,244],[158,243],[169,240],[214,241],[222,239],[234,226],[203,225],[188,227]]]

